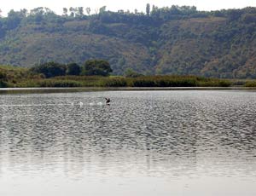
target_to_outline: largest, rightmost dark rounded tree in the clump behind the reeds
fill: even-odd
[[[92,76],[108,76],[110,72],[113,72],[108,61],[104,60],[89,60],[84,63],[84,75]]]

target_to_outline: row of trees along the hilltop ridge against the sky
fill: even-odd
[[[255,12],[253,8],[251,11]],[[139,12],[137,9],[134,11],[123,10],[119,9],[117,12],[108,11],[106,6],[102,6],[100,9],[95,9],[93,14],[90,7],[84,9],[84,7],[70,7],[70,8],[63,8],[62,14],[58,15],[55,14],[49,8],[38,7],[35,9],[27,10],[27,9],[20,9],[20,11],[15,11],[11,9],[8,13],[7,17],[1,16],[1,9],[0,9],[0,28],[4,29],[13,29],[20,24],[21,20],[26,19],[27,21],[36,21],[40,22],[42,20],[59,20],[65,18],[83,18],[83,19],[90,19],[95,17],[104,17],[104,15],[108,16],[109,14],[113,14],[119,17],[121,15],[125,16],[148,16],[152,19],[157,20],[172,20],[172,19],[180,19],[183,17],[207,17],[209,15],[215,16],[229,16],[230,19],[236,19],[239,15],[245,13],[247,9],[223,9],[218,11],[199,11],[196,9],[195,6],[177,6],[172,5],[171,7],[163,7],[158,8],[155,5],[150,5],[147,3],[145,12]],[[121,18],[123,18],[121,17]],[[127,20],[127,19],[125,19]],[[129,19],[128,19],[129,20]]]

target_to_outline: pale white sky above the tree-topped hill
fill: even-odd
[[[195,5],[198,10],[241,9],[248,6],[256,7],[256,0],[0,0],[2,14],[6,15],[10,9],[34,9],[47,7],[56,14],[62,14],[63,8],[90,7],[92,12],[102,6],[107,10],[119,9],[145,12],[146,4],[156,5],[159,8],[172,5]]]

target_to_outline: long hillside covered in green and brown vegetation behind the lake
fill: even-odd
[[[64,8],[11,10],[0,18],[0,64],[104,59],[113,74],[256,78],[256,8],[203,12],[189,6],[96,14]]]

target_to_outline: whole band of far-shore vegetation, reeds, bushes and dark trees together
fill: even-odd
[[[90,60],[76,63],[45,63],[32,68],[0,66],[1,88],[25,87],[255,87],[253,80],[204,78],[198,76],[144,76],[128,69],[124,76],[110,75],[108,61]]]

